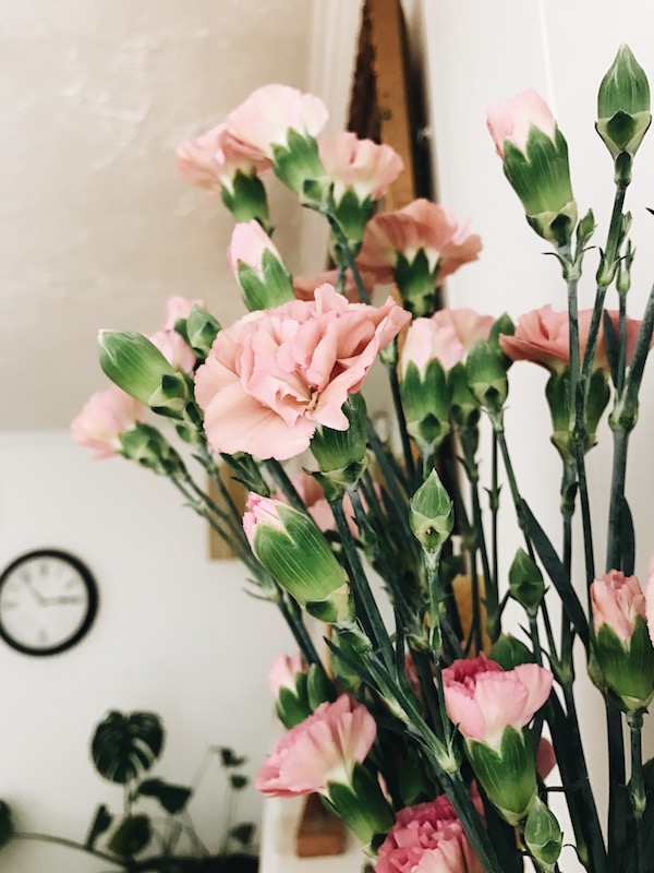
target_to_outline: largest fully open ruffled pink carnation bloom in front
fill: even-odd
[[[283,461],[308,447],[318,424],[347,430],[341,407],[410,314],[348,303],[329,285],[313,301],[252,312],[221,331],[195,375],[216,452]]]

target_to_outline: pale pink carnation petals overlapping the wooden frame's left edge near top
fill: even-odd
[[[389,145],[360,140],[344,130],[320,136],[318,156],[334,183],[337,203],[348,190],[354,191],[360,202],[379,200],[404,168],[402,158]]]

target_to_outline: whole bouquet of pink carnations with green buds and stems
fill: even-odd
[[[594,252],[593,213],[579,217],[566,140],[545,101],[528,91],[488,111],[505,175],[568,292],[567,312],[545,306],[514,324],[437,308],[444,280],[481,242],[426,200],[379,210],[402,169],[391,148],[352,133],[323,137],[317,97],[258,89],[177,153],[179,172],[219,192],[234,215],[228,256],[249,314],[221,327],[202,301],[175,298],[150,337],[101,332],[100,363],[114,385],[73,424],[99,457],[121,454],[167,476],[279,607],[298,654],[271,671],[288,733],[257,786],[277,797],[318,792],[378,873],[517,873],[525,858],[557,871],[574,854],[593,873],[654,870],[654,764],[641,742],[654,648],[625,493],[654,294],[641,321],[628,316],[634,252],[623,203],[651,115],[646,76],[627,47],[597,106],[616,194]],[[270,170],[325,218],[328,273],[290,274],[270,238]],[[595,301],[579,311],[590,260]],[[387,288],[371,302],[391,284],[395,297]],[[609,291],[616,302],[605,308]],[[519,360],[548,371],[544,402],[561,462],[555,537],[520,490],[505,431]],[[361,393],[373,364],[388,374],[389,433]],[[585,456],[607,408],[604,533]],[[492,446],[487,500],[481,435]],[[226,468],[249,492],[243,517]],[[507,566],[500,497],[523,538]],[[577,529],[585,578],[573,579]],[[509,601],[523,627],[508,624]],[[589,778],[573,656],[606,709],[606,822]],[[570,822],[565,848],[556,792]]]

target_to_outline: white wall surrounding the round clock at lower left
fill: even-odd
[[[34,658],[0,646],[0,798],[22,830],[83,839],[98,802],[120,812],[119,787],[95,775],[87,745],[110,708],[159,713],[168,742],[156,772],[187,784],[210,744],[250,756],[272,731],[267,670],[294,644],[274,606],[245,594],[237,561],[207,560],[202,519],[169,483],[122,458],[94,462],[66,433],[0,436],[0,530],[7,558],[70,550],[96,575],[97,621],[76,647]],[[208,776],[191,810],[216,846],[223,784]],[[243,818],[257,820],[247,791]],[[95,871],[66,850],[16,845],[3,873]]]

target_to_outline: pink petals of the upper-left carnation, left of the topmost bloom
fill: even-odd
[[[218,124],[175,150],[174,167],[186,182],[199,188],[231,190],[237,172],[253,176],[268,169],[270,162],[256,150],[240,142],[227,124]]]

